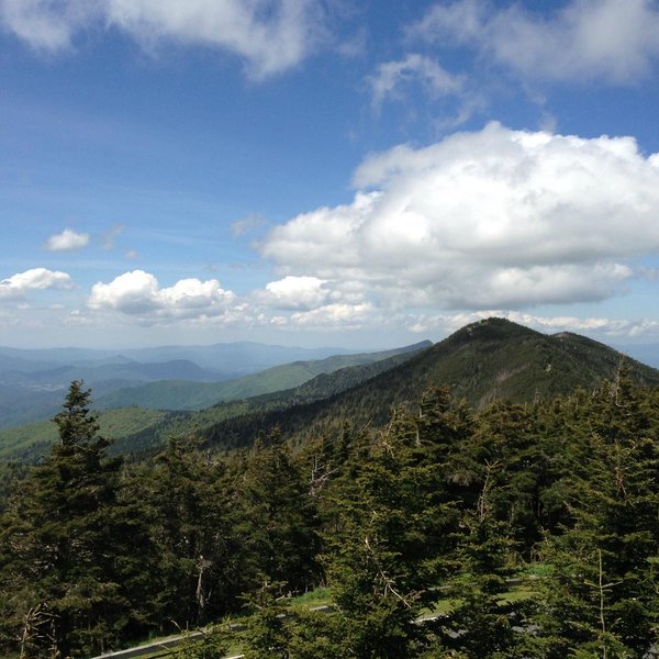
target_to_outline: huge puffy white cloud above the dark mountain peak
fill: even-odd
[[[520,309],[625,292],[659,250],[659,167],[629,137],[493,123],[368,157],[353,203],[275,227],[288,276],[353,283],[399,309]]]

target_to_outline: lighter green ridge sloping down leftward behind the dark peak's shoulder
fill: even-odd
[[[380,353],[334,355],[325,359],[293,361],[223,382],[202,383],[180,380],[149,382],[97,396],[96,405],[99,409],[135,405],[158,410],[202,410],[222,401],[292,389],[321,373],[331,373],[349,366],[373,364],[395,355],[415,353],[432,345],[429,340],[425,340]]]

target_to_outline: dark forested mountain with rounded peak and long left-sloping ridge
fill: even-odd
[[[259,428],[279,427],[284,436],[300,439],[319,428],[336,429],[337,420],[378,427],[393,407],[418,401],[437,386],[450,387],[456,398],[476,409],[494,401],[549,400],[577,388],[601,387],[622,361],[634,382],[659,384],[659,370],[604,344],[572,333],[546,335],[492,317],[462,327],[351,389],[289,407],[246,410],[204,429],[203,436],[214,445],[235,447],[249,444]]]

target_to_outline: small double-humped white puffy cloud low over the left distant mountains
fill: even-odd
[[[159,320],[221,315],[227,313],[235,302],[235,294],[222,289],[215,279],[181,279],[172,287],[160,288],[149,272],[133,270],[110,283],[93,284],[88,306],[92,310],[116,310],[144,320]]]

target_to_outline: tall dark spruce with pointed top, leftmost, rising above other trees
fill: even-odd
[[[26,658],[94,654],[147,622],[135,605],[149,594],[147,539],[121,499],[122,460],[107,457],[82,382],[54,421],[59,442],[0,528],[2,630]]]

